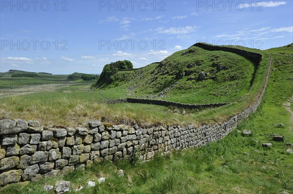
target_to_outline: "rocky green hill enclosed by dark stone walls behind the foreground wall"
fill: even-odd
[[[159,63],[118,71],[95,87],[120,88],[131,97],[156,95],[172,87],[165,100],[193,104],[231,102],[249,92],[255,68],[253,61],[239,54],[193,45]]]

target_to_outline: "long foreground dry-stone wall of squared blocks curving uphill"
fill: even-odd
[[[156,153],[217,141],[257,109],[268,76],[255,102],[222,124],[141,127],[91,121],[86,128],[50,128],[35,121],[1,120],[0,186],[30,180],[38,174],[66,174],[104,159],[127,159],[134,151],[141,159],[150,160]]]

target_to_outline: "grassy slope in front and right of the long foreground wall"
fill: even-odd
[[[279,51],[283,49],[264,51],[272,53],[272,69],[278,69],[271,73],[264,101],[256,113],[223,140],[136,165],[125,160],[98,163],[86,171],[75,171],[67,176],[41,179],[37,183],[11,184],[0,189],[0,193],[47,194],[43,185],[54,185],[57,180],[71,181],[72,191],[68,194],[74,194],[73,190],[79,185],[84,186],[79,194],[293,193],[293,155],[285,152],[289,147],[283,142],[272,141],[269,137],[270,133],[277,133],[283,135],[286,142],[293,142],[290,115],[280,105],[293,92],[292,80],[287,79],[292,77],[293,55],[280,55]],[[288,52],[293,54],[292,48],[289,49]],[[276,123],[283,123],[285,127],[275,127],[273,124]],[[237,132],[244,129],[252,130],[252,136],[242,137]],[[272,148],[263,148],[263,142],[272,142]],[[116,169],[123,169],[125,176],[119,177]],[[93,188],[86,186],[88,180],[97,181],[102,176],[106,177],[104,183]]]

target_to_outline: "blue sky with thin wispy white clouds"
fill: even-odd
[[[244,3],[243,3],[244,2]],[[293,1],[0,0],[0,71],[135,68],[199,41],[269,49],[293,42]]]

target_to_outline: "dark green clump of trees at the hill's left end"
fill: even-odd
[[[118,71],[127,70],[127,69],[133,69],[132,63],[128,60],[116,61],[110,64],[106,64],[104,66],[104,69],[101,73],[101,76],[98,82],[107,81],[112,75],[114,75]]]

